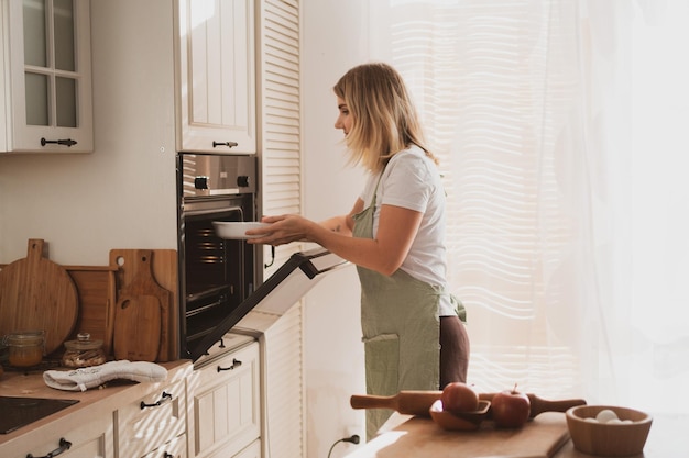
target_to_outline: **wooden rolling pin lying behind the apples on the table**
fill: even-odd
[[[480,400],[490,401],[496,393],[481,393]],[[352,409],[391,409],[404,415],[430,416],[430,405],[442,395],[442,391],[400,391],[392,396],[378,396],[372,394],[354,394],[349,403]],[[527,394],[531,401],[531,414],[533,418],[543,412],[566,412],[569,407],[584,405],[582,399],[566,399],[548,401],[536,394]]]

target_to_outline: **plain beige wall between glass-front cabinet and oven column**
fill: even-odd
[[[0,153],[0,262],[23,258],[28,238],[63,265],[177,247],[172,1],[135,2],[127,22],[108,3],[91,3],[96,150]]]

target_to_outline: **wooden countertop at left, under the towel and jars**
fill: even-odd
[[[0,395],[23,398],[73,399],[79,402],[59,412],[45,416],[29,425],[22,426],[10,434],[0,434],[2,456],[12,450],[26,450],[32,444],[46,436],[69,432],[84,425],[85,418],[101,417],[118,410],[123,404],[133,402],[155,390],[177,380],[186,379],[192,370],[192,361],[176,360],[161,362],[167,369],[167,379],[162,382],[134,382],[130,380],[111,380],[103,387],[86,391],[64,391],[50,388],[43,381],[43,372],[22,373],[7,371],[0,378]],[[59,368],[56,368],[59,370]]]

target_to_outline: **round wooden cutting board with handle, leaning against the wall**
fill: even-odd
[[[45,354],[59,348],[72,333],[79,302],[72,277],[43,257],[43,241],[29,241],[26,258],[0,270],[0,336],[17,331],[45,331]]]

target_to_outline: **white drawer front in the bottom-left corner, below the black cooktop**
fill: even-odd
[[[52,455],[50,455],[52,454]],[[31,449],[13,457],[59,456],[61,458],[114,458],[112,414],[84,418],[83,425],[52,437],[45,437]]]

